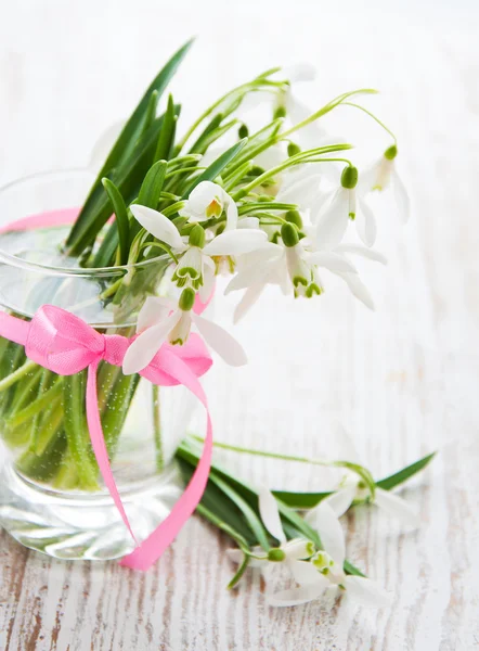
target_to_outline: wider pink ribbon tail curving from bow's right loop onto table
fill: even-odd
[[[198,506],[208,482],[211,468],[212,454],[212,425],[208,410],[205,392],[196,375],[189,367],[169,350],[164,352],[164,370],[172,375],[180,384],[189,388],[202,403],[207,414],[207,431],[203,454],[196,470],[190,480],[183,495],[174,505],[171,513],[156,527],[154,532],[130,554],[125,557],[120,564],[132,570],[145,572],[159,559],[164,551],[171,545],[184,523]]]

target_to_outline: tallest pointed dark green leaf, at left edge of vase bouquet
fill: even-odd
[[[113,169],[124,165],[125,162],[127,162],[132,155],[140,137],[144,135],[145,127],[147,130],[151,129],[151,127],[147,126],[148,116],[151,117],[151,95],[156,92],[157,99],[161,97],[170,79],[173,77],[180,63],[189,51],[192,42],[193,41],[190,40],[176,54],[173,54],[173,56],[152,81],[137,108],[133,111],[130,119],[125,125],[102,169],[100,170],[100,174],[90,190],[88,199],[83,204],[83,208],[81,209],[68,235],[66,248],[70,254],[79,255],[81,253],[82,247],[85,247],[86,231],[90,238],[90,241],[87,238],[87,244],[91,244],[90,225],[92,221],[96,222],[98,220],[96,210],[94,208],[98,201],[98,193],[101,189],[101,179],[106,176],[109,177]],[[150,159],[150,163],[152,159],[153,155]]]

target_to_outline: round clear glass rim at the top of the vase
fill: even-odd
[[[9,181],[8,183],[4,183],[2,186],[0,186],[0,197],[2,196],[3,193],[15,189],[18,186],[22,186],[23,183],[28,183],[30,181],[38,181],[41,179],[48,180],[49,178],[54,178],[54,177],[61,177],[61,176],[79,176],[80,174],[83,175],[88,175],[90,174],[92,179],[95,178],[95,174],[93,171],[91,171],[88,167],[70,167],[70,168],[66,168],[66,169],[51,169],[48,171],[38,171],[38,173],[34,173],[30,175],[26,175],[24,177],[20,177],[16,179],[13,179],[12,181]],[[72,206],[67,206],[67,207],[72,207]],[[48,228],[55,228],[55,227],[48,227]],[[31,229],[31,230],[37,230],[37,229]],[[38,229],[40,230],[40,229]],[[9,231],[4,231],[4,233],[7,233]],[[10,232],[14,232],[14,231],[10,231]],[[158,255],[154,258],[151,258],[148,260],[143,260],[141,263],[134,263],[132,265],[118,265],[118,266],[112,266],[112,267],[60,267],[56,265],[43,265],[41,263],[33,263],[33,261],[28,261],[25,260],[24,258],[21,258],[16,255],[13,255],[11,253],[9,253],[8,251],[5,251],[4,248],[1,247],[0,245],[0,263],[4,263],[10,265],[11,267],[17,267],[20,269],[26,269],[26,270],[30,270],[30,271],[36,271],[39,273],[44,273],[44,275],[49,275],[49,276],[64,276],[64,277],[87,277],[87,278],[91,278],[91,277],[115,277],[115,276],[126,276],[129,271],[132,270],[137,270],[137,269],[142,269],[145,267],[153,267],[155,266],[155,264],[158,263],[164,263],[166,259],[168,259],[168,255],[161,254]]]

